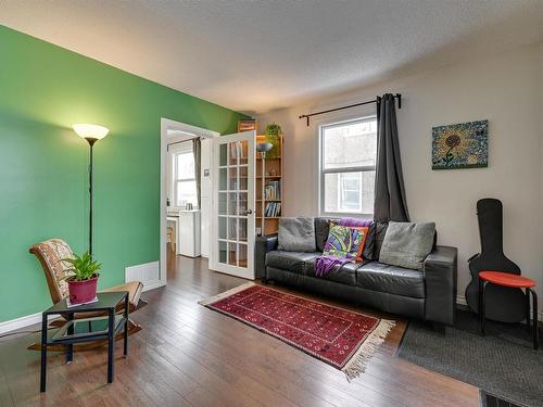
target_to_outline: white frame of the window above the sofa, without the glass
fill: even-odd
[[[350,167],[341,167],[341,168],[324,168],[325,163],[325,148],[324,148],[324,135],[325,130],[333,127],[342,127],[345,125],[356,124],[356,123],[365,123],[365,122],[374,122],[377,120],[377,115],[364,115],[357,116],[354,118],[348,118],[343,120],[334,120],[321,123],[318,126],[318,213],[320,216],[326,217],[334,217],[334,216],[350,216],[350,217],[362,217],[362,218],[372,218],[372,213],[362,213],[362,180],[361,176],[361,186],[359,186],[359,194],[361,194],[361,211],[357,212],[349,212],[349,211],[339,211],[339,212],[329,212],[325,211],[325,177],[327,174],[342,174],[342,173],[365,173],[365,171],[376,171],[377,165],[361,165],[361,166],[350,166]],[[376,149],[377,155],[377,149]],[[376,157],[377,164],[377,157]],[[338,193],[338,207],[340,206],[341,200],[341,188]],[[374,189],[375,196],[375,189]]]

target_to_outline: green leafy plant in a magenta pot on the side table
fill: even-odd
[[[92,259],[87,251],[83,256],[74,254],[74,258],[63,258],[70,265],[64,279],[68,284],[70,303],[84,304],[96,298],[100,268],[102,265]]]

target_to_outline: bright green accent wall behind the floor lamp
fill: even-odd
[[[74,123],[110,128],[94,144],[105,288],[159,259],[161,117],[229,133],[244,116],[4,26],[0,61],[1,322],[51,303],[31,244],[56,237],[87,250],[89,148]]]

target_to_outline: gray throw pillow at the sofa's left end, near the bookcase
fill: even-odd
[[[288,252],[315,252],[313,218],[279,218],[278,249]]]

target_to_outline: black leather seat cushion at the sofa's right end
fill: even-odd
[[[370,262],[356,270],[356,285],[415,298],[426,296],[422,272],[379,262]]]

